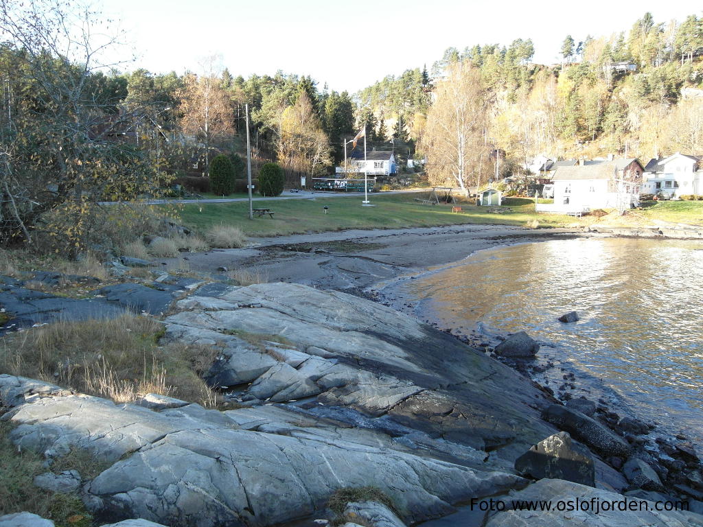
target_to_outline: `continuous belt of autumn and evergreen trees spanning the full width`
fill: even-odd
[[[154,195],[174,178],[206,176],[218,154],[243,177],[247,107],[254,175],[276,161],[288,186],[333,173],[360,129],[369,148],[427,157],[430,180],[453,186],[485,183],[496,161],[503,176],[528,176],[525,165],[538,154],[703,154],[696,15],[662,22],[645,13],[619,34],[567,35],[557,65],[533,63],[529,39],[449,48],[429,71],[418,65],[340,93],[283,71],[244,78],[217,55],[195,72],[127,72],[128,62],[103,60],[123,42],[105,37],[99,13],[58,0],[2,1],[5,245],[30,238],[60,210],[54,235],[79,239],[98,200]]]

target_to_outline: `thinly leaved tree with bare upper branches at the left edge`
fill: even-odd
[[[99,13],[59,0],[0,1],[1,245],[42,233],[75,255],[99,238],[99,200],[154,190],[148,156],[115,139],[143,114],[115,115],[115,102],[96,96],[101,59],[120,41],[101,27]]]

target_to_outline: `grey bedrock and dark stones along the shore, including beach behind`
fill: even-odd
[[[511,233],[501,229],[444,231],[428,259],[465,256],[457,236],[475,236],[475,250],[496,238],[504,243]],[[534,233],[512,234],[508,242],[534,240]],[[316,269],[300,280],[309,285],[241,287],[162,272],[99,289],[98,304],[164,313],[163,342],[219,349],[205,379],[231,409],[157,394],[117,405],[0,372],[0,413],[13,427],[11,440],[46,460],[48,472],[35,484],[54,491],[70,483],[96,521],[140,519],[147,523],[135,525],[144,526],[401,527],[495,496],[647,506],[612,514],[513,506],[486,511],[477,525],[703,526],[695,445],[662,439],[652,450],[643,441],[649,423],[621,418],[605,401],[559,401],[527,377],[536,346],[522,336],[519,346],[512,342],[518,351],[510,351],[511,337],[490,346],[492,357],[470,335],[457,338],[363,298],[373,297],[368,285],[421,268],[411,260],[427,247],[392,236],[347,252],[319,240],[307,252],[287,244],[269,250],[270,270],[294,275],[299,261],[304,273]],[[259,261],[261,254],[245,249],[232,257]],[[2,294],[18,302],[31,290],[21,280],[4,283]],[[356,294],[324,287],[330,283]],[[53,301],[46,295],[30,294],[27,303]],[[76,448],[108,467],[95,477],[51,472],[54,460]],[[359,488],[382,494],[344,494]],[[341,491],[340,505],[333,498]],[[685,500],[692,512],[654,509],[671,500]],[[13,521],[0,516],[2,527],[20,525]]]

